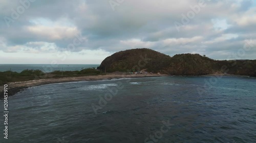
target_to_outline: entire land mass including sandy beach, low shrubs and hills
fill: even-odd
[[[20,73],[0,72],[0,86],[8,84],[12,91],[11,96],[28,87],[49,83],[169,75],[244,75],[256,77],[256,60],[218,61],[205,55],[190,53],[176,54],[171,57],[152,49],[130,49],[108,56],[97,69],[58,70],[49,73],[32,69],[25,69]],[[0,93],[4,95],[3,88],[0,89]]]

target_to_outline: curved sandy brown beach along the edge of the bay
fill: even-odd
[[[122,73],[111,73],[106,75],[90,75],[90,76],[78,76],[78,77],[62,77],[62,78],[49,78],[49,79],[38,79],[28,81],[9,82],[8,84],[8,97],[15,95],[30,87],[36,87],[39,85],[51,84],[51,83],[62,83],[72,81],[94,81],[104,79],[120,79],[120,78],[139,78],[139,77],[161,77],[169,76],[166,74],[122,74]],[[0,89],[0,100],[4,98],[4,85],[1,85]]]

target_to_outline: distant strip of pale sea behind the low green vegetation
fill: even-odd
[[[97,68],[99,65],[68,65],[68,64],[0,64],[0,72],[13,71],[22,72],[23,70],[41,70],[42,72],[53,72],[53,71],[80,71],[86,68]]]

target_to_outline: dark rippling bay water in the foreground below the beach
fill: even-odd
[[[9,98],[5,142],[256,142],[256,78],[213,81],[149,77],[29,88]]]

